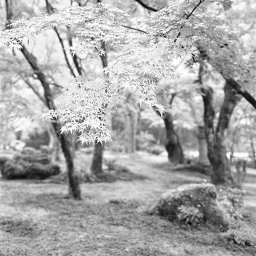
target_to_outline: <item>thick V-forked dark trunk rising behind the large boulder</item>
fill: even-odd
[[[213,91],[212,88],[203,88],[204,104],[204,122],[205,136],[208,142],[208,158],[212,165],[212,183],[227,184],[233,182],[229,161],[227,159],[227,149],[225,139],[229,121],[233,109],[240,100],[240,96],[229,83],[226,82],[224,87],[225,98],[221,106],[221,112],[218,117],[218,125],[214,132],[214,108],[213,108]]]

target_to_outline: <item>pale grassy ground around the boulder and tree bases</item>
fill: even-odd
[[[206,176],[172,171],[161,156],[115,157],[147,178],[82,184],[82,201],[65,199],[64,184],[0,180],[0,256],[256,255],[253,246],[227,242],[221,233],[145,213],[163,191]],[[79,158],[87,168],[90,156]],[[256,177],[250,174],[244,188],[245,225],[255,231]]]

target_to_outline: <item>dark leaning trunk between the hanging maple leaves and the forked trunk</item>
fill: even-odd
[[[168,158],[173,163],[183,163],[184,155],[182,145],[180,145],[180,139],[174,130],[173,117],[171,113],[166,111],[163,115],[166,128],[166,141],[165,148],[168,152]]]

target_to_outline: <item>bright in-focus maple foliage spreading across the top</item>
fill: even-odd
[[[0,41],[19,48],[37,74],[44,87],[49,117],[58,121],[53,124],[63,145],[66,132],[72,131],[79,133],[82,143],[96,142],[99,147],[100,143],[111,140],[108,123],[117,105],[126,103],[126,91],[132,92],[139,104],[149,104],[165,116],[164,107],[156,99],[156,88],[162,77],[175,76],[173,61],[187,55],[197,58],[200,53],[200,58],[221,73],[229,86],[256,106],[255,98],[247,89],[253,81],[250,67],[243,60],[238,40],[227,33],[228,29],[221,26],[216,15],[223,8],[231,8],[230,0],[171,1],[160,10],[155,3],[151,6],[136,2],[150,13],[143,18],[134,17],[115,7],[115,1],[113,5],[87,3],[82,6],[79,3],[55,12],[46,1],[48,14],[19,19],[11,26],[9,14],[8,29],[0,33]],[[72,30],[74,35],[69,47],[79,76],[66,56],[58,30],[61,27]],[[74,76],[72,82],[63,85],[57,108],[53,104],[51,84],[25,46],[26,40],[33,40],[48,28],[55,30]],[[99,56],[104,59],[107,48],[111,50],[111,57],[109,55],[109,65],[103,65],[104,72],[83,72],[77,56],[85,62]]]

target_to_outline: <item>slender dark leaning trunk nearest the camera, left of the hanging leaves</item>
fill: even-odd
[[[31,68],[33,69],[33,72],[35,72],[35,74],[38,77],[38,80],[40,81],[40,83],[42,84],[42,87],[44,88],[44,98],[46,101],[46,105],[48,106],[48,109],[54,110],[55,105],[53,102],[51,87],[50,87],[50,84],[47,82],[44,72],[40,70],[40,67],[38,66],[38,61],[33,56],[33,54],[29,53],[29,51],[27,51],[27,48],[25,46],[23,45],[21,46],[22,46],[22,48],[20,49],[21,53],[23,53],[24,57],[27,59]],[[55,130],[55,133],[57,134],[59,142],[61,143],[61,149],[66,159],[66,166],[68,171],[68,182],[70,186],[69,191],[72,197],[74,197],[75,199],[81,199],[81,189],[79,186],[79,178],[77,177],[74,171],[74,159],[72,156],[70,141],[68,139],[67,134],[60,132],[61,125],[59,124],[59,122],[57,122],[57,120],[53,120],[52,125]]]

